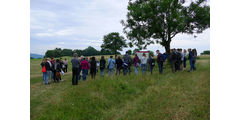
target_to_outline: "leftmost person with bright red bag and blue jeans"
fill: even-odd
[[[42,66],[43,84],[48,85],[49,84],[48,77],[49,77],[49,73],[51,71],[50,64],[47,62],[47,59],[44,58],[40,65]]]

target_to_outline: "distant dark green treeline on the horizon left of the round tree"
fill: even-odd
[[[114,53],[111,51],[104,50],[104,49],[101,49],[100,51],[98,51],[94,47],[89,46],[84,50],[55,48],[54,50],[47,50],[47,52],[45,53],[45,57],[73,56],[73,53],[77,53],[78,56],[114,55]],[[120,54],[120,52],[117,52],[117,54]]]

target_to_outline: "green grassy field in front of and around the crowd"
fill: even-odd
[[[71,85],[71,66],[63,82],[43,85],[40,62],[32,59],[30,65],[33,120],[210,119],[209,56],[201,56],[192,73],[171,73],[166,66],[159,75],[155,66],[153,75],[148,71],[147,75],[100,77],[98,73],[95,80],[88,76],[77,86]]]

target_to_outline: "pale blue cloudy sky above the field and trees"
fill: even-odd
[[[123,33],[120,20],[126,19],[128,0],[31,0],[30,52],[44,55],[58,48],[101,50],[103,36]],[[196,48],[198,53],[210,50],[210,29],[201,34],[178,34],[171,48]],[[126,50],[134,48],[125,48]],[[165,52],[164,47],[152,44],[147,50]]]

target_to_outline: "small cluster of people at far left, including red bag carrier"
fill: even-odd
[[[43,84],[50,84],[49,76],[51,80],[55,83],[59,83],[62,80],[61,75],[67,72],[68,69],[68,60],[65,58],[63,61],[62,58],[54,59],[44,58],[42,63],[42,73],[43,73]]]

